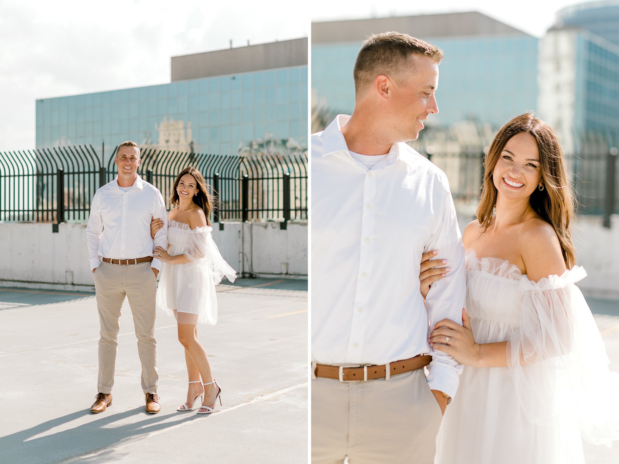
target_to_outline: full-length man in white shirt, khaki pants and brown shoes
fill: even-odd
[[[153,258],[153,249],[167,249],[168,213],[161,193],[137,175],[140,149],[136,142],[120,144],[114,164],[118,176],[95,193],[86,227],[101,324],[98,393],[90,411],[101,413],[112,402],[118,318],[127,296],[142,363],[146,412],[158,413],[155,293],[162,262]],[[152,217],[163,218],[154,243],[150,238]]]

